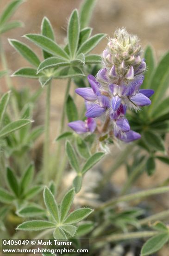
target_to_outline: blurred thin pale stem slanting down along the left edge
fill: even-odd
[[[7,85],[8,89],[13,92],[14,88],[13,88],[13,84],[12,84],[12,81],[11,81],[11,78],[9,75],[7,61],[6,61],[6,55],[5,55],[1,40],[0,40],[0,57],[1,57],[1,61],[2,61],[2,67],[7,72],[7,74],[5,75],[6,85]],[[19,117],[19,110],[18,110],[18,106],[17,106],[17,101],[15,100],[13,95],[12,95],[11,101],[12,101],[13,113],[14,113],[15,117],[17,118],[17,117]]]

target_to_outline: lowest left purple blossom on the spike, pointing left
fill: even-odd
[[[68,126],[72,128],[77,134],[83,134],[87,132],[93,133],[96,129],[96,122],[93,118],[88,118],[85,121],[73,121],[69,122]]]

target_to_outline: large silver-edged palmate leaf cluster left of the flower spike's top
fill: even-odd
[[[67,43],[64,47],[56,43],[54,30],[50,20],[42,20],[41,34],[26,34],[25,38],[42,49],[44,61],[40,63],[37,55],[30,47],[18,40],[10,40],[10,44],[27,61],[37,69],[21,68],[14,72],[14,76],[39,79],[42,87],[51,79],[73,78],[84,76],[86,66],[101,63],[99,55],[88,55],[90,51],[105,37],[105,34],[96,34],[90,37],[92,29],[86,27],[90,19],[94,1],[86,1],[81,7],[81,17],[75,9],[69,19]],[[86,13],[86,14],[85,14]]]

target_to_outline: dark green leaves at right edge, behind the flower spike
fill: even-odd
[[[144,58],[147,64],[147,71],[144,76],[142,88],[151,88],[155,91],[150,97],[151,105],[139,113],[128,113],[131,128],[141,133],[142,138],[137,142],[141,149],[147,151],[148,156],[145,170],[148,175],[152,175],[156,170],[156,154],[162,152],[162,160],[168,162],[165,149],[165,137],[169,132],[169,98],[166,90],[169,81],[169,53],[166,53],[156,66],[152,47],[145,49]],[[164,157],[164,158],[163,158]],[[166,159],[166,161],[165,161]],[[160,160],[160,159],[159,159]]]

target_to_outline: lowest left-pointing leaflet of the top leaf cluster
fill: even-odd
[[[23,67],[15,71],[12,76],[21,76],[31,79],[38,79],[39,75],[37,74],[37,69],[31,67]]]

